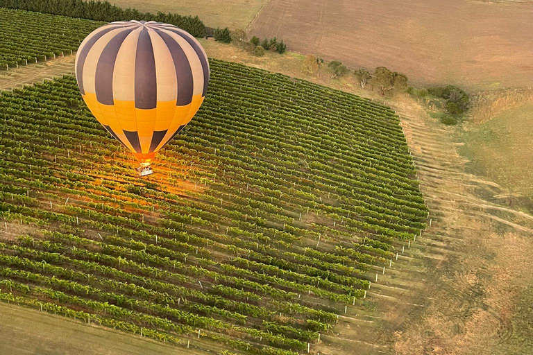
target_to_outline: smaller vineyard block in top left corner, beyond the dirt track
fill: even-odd
[[[103,22],[0,8],[0,70],[71,54]]]

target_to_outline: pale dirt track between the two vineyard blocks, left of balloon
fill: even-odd
[[[65,55],[48,62],[0,71],[0,90],[32,85],[63,74],[74,73],[75,55]]]

